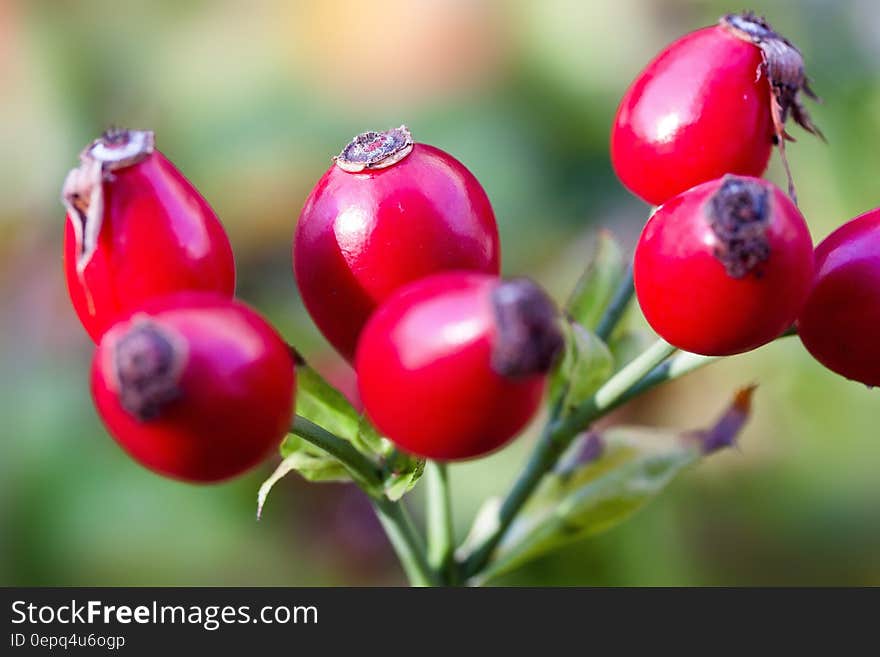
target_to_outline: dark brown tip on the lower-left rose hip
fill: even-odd
[[[154,420],[181,394],[184,353],[179,340],[147,319],[116,342],[113,363],[119,401],[141,422]]]

